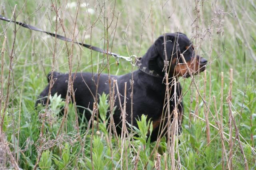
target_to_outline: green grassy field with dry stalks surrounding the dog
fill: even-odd
[[[253,0],[4,0],[0,5],[7,18],[124,56],[142,57],[159,35],[180,31],[210,62],[193,80],[180,78],[188,91],[182,100],[183,131],[171,150],[165,138],[146,141],[150,122],[144,117],[137,137],[109,134],[107,96],[100,98],[103,119],[93,131],[87,121],[76,125],[72,104],[67,119],[60,116],[65,102],[57,96],[47,111],[35,110],[51,70],[108,73],[109,68],[121,75],[137,68],[123,59],[116,64],[114,57],[108,64],[106,55],[0,21],[0,169],[256,168]]]

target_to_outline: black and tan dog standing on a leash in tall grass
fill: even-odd
[[[166,50],[165,50],[166,49]],[[186,64],[181,55],[183,54]],[[167,58],[167,61],[166,61]],[[147,115],[148,119],[153,121],[153,131],[151,135],[151,141],[156,141],[158,137],[158,131],[160,128],[160,122],[166,123],[166,117],[164,113],[166,111],[166,81],[165,81],[165,65],[168,64],[168,82],[170,83],[170,112],[174,110],[175,103],[179,101],[181,95],[181,87],[179,83],[176,83],[176,95],[174,96],[174,79],[179,76],[189,77],[190,74],[197,74],[202,72],[206,66],[206,59],[195,56],[194,47],[183,33],[167,33],[160,36],[155,43],[148,49],[146,54],[142,57],[137,66],[139,70],[133,73],[128,73],[121,76],[111,76],[112,80],[115,79],[118,82],[118,88],[121,96],[121,103],[124,103],[124,83],[127,83],[127,103],[126,103],[126,121],[131,122],[131,104],[130,104],[130,80],[134,80],[134,94],[133,94],[133,122],[136,125],[136,119],[141,117],[142,114]],[[166,63],[168,62],[168,63]],[[189,71],[188,68],[189,67]],[[49,73],[48,77],[51,75]],[[92,94],[96,93],[96,85],[99,78],[98,94],[103,92],[109,94],[109,82],[107,74],[97,74],[92,75],[92,73],[82,73],[76,74],[74,77],[74,96],[77,106],[86,107],[93,109],[94,98]],[[62,98],[66,97],[68,90],[68,74],[61,74],[53,72],[54,85],[51,89],[51,94],[57,93],[61,94]],[[177,80],[177,79],[176,79]],[[50,78],[48,78],[48,82]],[[85,82],[87,84],[85,84]],[[113,82],[111,82],[113,83]],[[38,100],[36,101],[36,106],[41,104],[46,104],[46,98],[49,92],[48,86],[40,94]],[[90,90],[89,90],[90,88]],[[114,122],[116,125],[121,126],[120,122],[120,105],[119,101],[115,101],[116,110],[114,113]],[[178,120],[179,127],[182,120],[182,103],[178,103]],[[80,113],[83,113],[84,109],[79,109]],[[86,118],[89,120],[91,114],[86,112]],[[116,128],[117,132],[120,134],[120,128]]]

